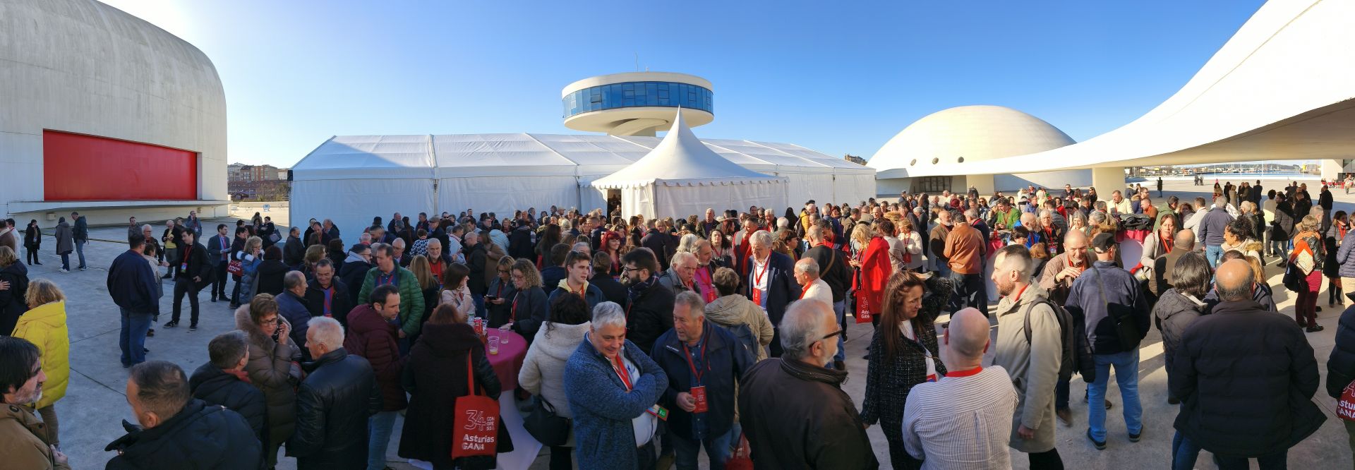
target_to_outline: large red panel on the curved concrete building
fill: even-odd
[[[198,153],[42,131],[46,200],[195,200]]]

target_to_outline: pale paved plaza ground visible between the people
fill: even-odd
[[[1282,186],[1276,183],[1266,181],[1264,186],[1267,188]],[[1175,192],[1169,191],[1169,194],[1182,198],[1194,198],[1207,191],[1206,187],[1192,187],[1188,181],[1169,181],[1168,190],[1176,190]],[[1313,194],[1316,195],[1316,191]],[[1336,198],[1340,200],[1337,209],[1347,211],[1355,209],[1355,196],[1337,194]],[[43,244],[43,265],[31,267],[31,276],[54,279],[69,295],[72,374],[66,397],[57,404],[57,409],[62,423],[62,448],[70,455],[70,462],[76,469],[102,467],[110,456],[103,451],[103,447],[122,435],[119,423],[131,419],[123,394],[127,372],[118,363],[118,312],[104,289],[106,268],[117,255],[125,251],[125,244],[114,242],[122,240],[123,233],[122,228],[91,230],[91,237],[99,240],[85,247],[89,271],[56,272],[60,267],[60,259],[51,255],[50,248],[54,247],[54,242],[50,240]],[[1271,278],[1272,286],[1279,283],[1280,272],[1278,268],[1268,268],[1267,275]],[[167,286],[167,290],[172,291],[172,286]],[[209,295],[201,295],[201,329],[194,333],[188,333],[186,328],[157,329],[157,335],[146,340],[146,347],[150,348],[149,359],[172,360],[188,371],[206,362],[207,341],[214,335],[234,328],[232,312],[226,309],[225,302],[211,303],[207,298]],[[169,297],[163,301],[161,312],[164,314],[157,324],[168,321],[171,301]],[[1283,289],[1276,289],[1276,301],[1282,313],[1293,313],[1294,299]],[[1308,335],[1308,337],[1316,349],[1325,377],[1325,363],[1332,349],[1336,320],[1341,309],[1325,307],[1325,302],[1320,302],[1320,305],[1324,306],[1324,312],[1318,314],[1320,324],[1325,325],[1327,330]],[[184,310],[187,310],[187,305],[184,305]],[[187,318],[183,321],[187,322]],[[866,387],[866,363],[860,358],[869,345],[870,335],[871,329],[867,325],[851,325],[850,328],[851,340],[847,343],[847,352],[851,377],[844,387],[856,400],[858,406],[860,406],[860,397]],[[1140,383],[1145,424],[1142,442],[1130,443],[1125,437],[1123,419],[1119,414],[1119,391],[1110,387],[1108,397],[1115,402],[1115,409],[1107,413],[1108,448],[1096,451],[1084,437],[1087,408],[1076,398],[1080,396],[1083,385],[1075,379],[1072,386],[1075,424],[1070,428],[1058,427],[1058,450],[1070,469],[1161,469],[1168,465],[1176,406],[1167,405],[1167,374],[1163,368],[1161,339],[1156,330],[1148,335],[1141,349]],[[1347,447],[1346,431],[1335,414],[1335,400],[1320,390],[1314,401],[1322,408],[1328,420],[1316,435],[1290,451],[1290,465],[1298,469],[1350,469],[1351,452]],[[400,429],[398,423],[396,429]],[[889,451],[879,427],[871,427],[869,435],[875,444],[877,456],[888,467]],[[390,444],[390,465],[397,469],[408,469],[394,455],[396,448],[398,448],[398,432]],[[1214,467],[1213,463],[1209,463],[1207,455],[1207,452],[1202,455],[1198,467]],[[533,467],[545,469],[545,463],[546,456],[542,456]],[[1016,469],[1024,469],[1027,466],[1024,455],[1014,452],[1014,465]],[[293,459],[279,462],[279,469],[294,467],[295,461]]]

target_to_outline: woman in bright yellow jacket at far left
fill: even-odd
[[[57,437],[56,402],[66,396],[66,382],[70,381],[70,337],[66,332],[66,295],[57,284],[46,279],[28,283],[24,297],[28,312],[19,317],[14,337],[22,337],[38,345],[42,354],[42,370],[47,382],[42,385],[42,397],[33,405],[47,425],[47,442],[60,446]]]

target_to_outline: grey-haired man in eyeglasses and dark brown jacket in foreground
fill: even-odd
[[[878,469],[856,405],[841,390],[847,372],[824,367],[841,335],[833,307],[798,301],[778,329],[785,355],[759,362],[738,383],[740,423],[757,467]]]

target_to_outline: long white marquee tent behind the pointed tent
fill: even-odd
[[[875,195],[875,171],[793,144],[702,140],[738,167],[786,177],[786,200],[856,203]],[[466,209],[512,214],[550,206],[606,207],[591,183],[635,163],[657,137],[562,134],[336,135],[291,168],[291,221],[332,218],[350,233],[373,215]],[[748,207],[729,200],[718,209]],[[705,210],[705,209],[702,209]],[[699,214],[694,213],[694,214]]]

